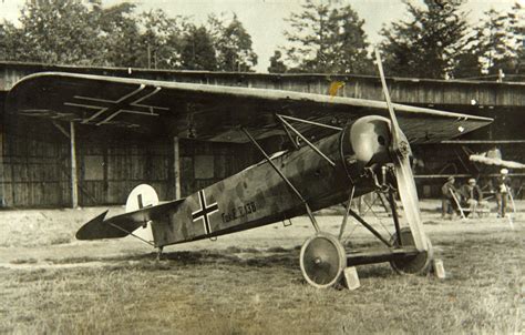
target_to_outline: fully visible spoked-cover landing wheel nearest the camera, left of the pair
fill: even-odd
[[[302,244],[299,262],[305,280],[315,287],[326,288],[341,277],[347,254],[336,236],[317,233]]]

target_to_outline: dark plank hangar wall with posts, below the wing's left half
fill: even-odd
[[[3,206],[71,206],[70,141],[58,129],[49,133],[47,139],[9,130],[2,133]],[[179,140],[182,196],[248,166],[254,162],[250,154],[243,144]],[[174,156],[173,140],[109,142],[79,136],[79,205],[123,204],[142,183],[151,184],[161,200],[175,199]]]

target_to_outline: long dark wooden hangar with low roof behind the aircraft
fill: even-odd
[[[328,94],[382,100],[378,78],[326,74],[258,74],[0,63],[0,204],[71,206],[122,204],[137,184],[153,185],[162,200],[187,195],[260,159],[246,144],[147,138],[130,131],[93,130],[6,110],[8,91],[25,75],[53,71]],[[440,175],[476,175],[469,153],[497,146],[505,160],[525,162],[525,84],[422,79],[388,80],[398,103],[494,118],[466,138],[414,148],[420,192],[435,195]],[[31,123],[31,126],[28,124]],[[35,131],[29,131],[37,129]],[[280,139],[269,139],[277,149]],[[517,173],[517,179],[521,174]]]

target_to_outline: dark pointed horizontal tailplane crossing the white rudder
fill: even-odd
[[[161,205],[145,207],[135,212],[130,212],[105,219],[109,211],[100,214],[95,219],[84,224],[76,232],[76,240],[100,240],[100,238],[119,238],[130,235],[136,229],[165,217],[172,211],[175,211],[184,199],[163,203]]]

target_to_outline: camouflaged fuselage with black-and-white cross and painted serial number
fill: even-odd
[[[271,161],[300,192],[312,211],[348,200],[352,189],[346,171],[341,133],[325,138],[316,146],[331,161],[305,145]],[[348,150],[347,150],[348,151]],[[354,195],[370,192],[370,185]],[[306,213],[297,194],[275,169],[262,161],[185,199],[152,231],[156,246],[214,237],[284,221]]]

